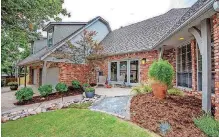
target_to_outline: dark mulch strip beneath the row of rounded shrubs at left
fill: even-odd
[[[61,94],[59,92],[49,94],[47,97],[41,97],[41,96],[34,96],[31,100],[23,101],[23,102],[16,102],[14,105],[29,105],[34,103],[40,103],[44,101],[54,100],[57,98],[67,97],[67,96],[75,96],[83,93],[83,89],[74,89],[72,87],[68,88],[68,91],[64,94]]]

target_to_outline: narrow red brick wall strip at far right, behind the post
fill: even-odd
[[[213,16],[214,63],[215,63],[215,118],[219,120],[219,13]]]

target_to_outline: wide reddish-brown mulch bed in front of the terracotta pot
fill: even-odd
[[[161,135],[161,122],[168,122],[171,130],[165,137],[204,137],[193,122],[200,116],[201,99],[194,96],[168,96],[155,99],[152,94],[137,95],[131,100],[131,120],[141,127]]]

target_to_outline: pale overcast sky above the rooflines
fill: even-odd
[[[112,30],[142,21],[171,8],[191,6],[197,0],[64,0],[63,7],[71,17],[62,21],[85,21],[101,16],[110,23]]]

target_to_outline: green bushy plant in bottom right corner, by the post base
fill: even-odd
[[[216,121],[211,115],[204,114],[203,116],[194,119],[194,123],[207,136],[209,137],[219,136],[219,121]]]

